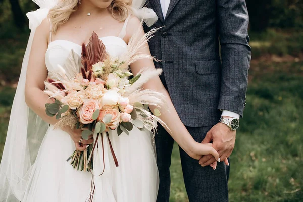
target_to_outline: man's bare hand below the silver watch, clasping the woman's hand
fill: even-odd
[[[220,159],[223,161],[231,155],[234,149],[236,131],[231,131],[228,126],[223,123],[217,123],[206,134],[202,143],[210,143],[211,141],[213,141],[213,147],[218,151]],[[199,164],[204,167],[215,161],[214,156],[205,155],[200,159]]]

